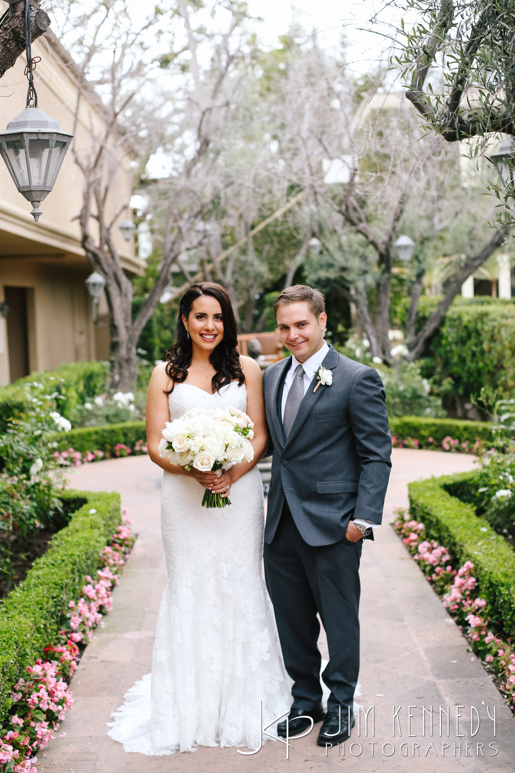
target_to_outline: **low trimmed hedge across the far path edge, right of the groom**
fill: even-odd
[[[491,443],[500,437],[500,427],[487,421],[465,421],[460,419],[432,419],[418,416],[390,417],[390,432],[399,440],[417,438],[418,448],[434,448],[450,435],[460,443],[469,441],[473,446],[476,440]],[[433,443],[429,442],[433,439]]]

